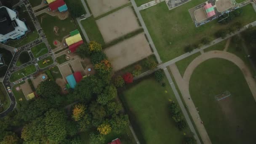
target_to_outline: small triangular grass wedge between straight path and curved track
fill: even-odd
[[[189,64],[197,57],[197,56],[200,56],[201,53],[200,52],[197,52],[185,59],[182,59],[181,61],[178,61],[176,62],[176,66],[178,67],[179,69],[179,72],[181,73],[181,76],[183,77],[184,75],[184,72],[186,71],[187,69],[187,66],[189,66]]]

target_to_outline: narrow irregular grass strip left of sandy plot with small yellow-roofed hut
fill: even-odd
[[[25,98],[21,88],[19,88],[19,91],[16,90],[17,87],[19,87],[20,85],[24,84],[25,81],[17,84],[17,85],[14,85],[13,88],[12,88],[12,92],[13,92],[13,95],[15,96],[15,99],[16,99],[16,102],[17,102],[17,109],[19,109],[21,107],[21,101],[26,101],[27,99]]]

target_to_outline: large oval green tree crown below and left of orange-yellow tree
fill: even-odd
[[[45,113],[45,132],[47,139],[51,143],[59,143],[67,136],[67,117],[64,112],[59,112],[56,109],[50,109]]]

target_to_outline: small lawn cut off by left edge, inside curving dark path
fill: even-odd
[[[8,107],[11,104],[11,100],[10,100],[8,93],[6,92],[5,87],[2,82],[0,83],[0,101],[2,104],[2,108],[3,108],[3,109],[0,108],[0,112],[3,112],[6,109],[8,109]]]

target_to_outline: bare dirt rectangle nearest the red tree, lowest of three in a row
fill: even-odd
[[[105,49],[115,71],[127,67],[152,54],[144,33],[131,37],[121,43]]]

